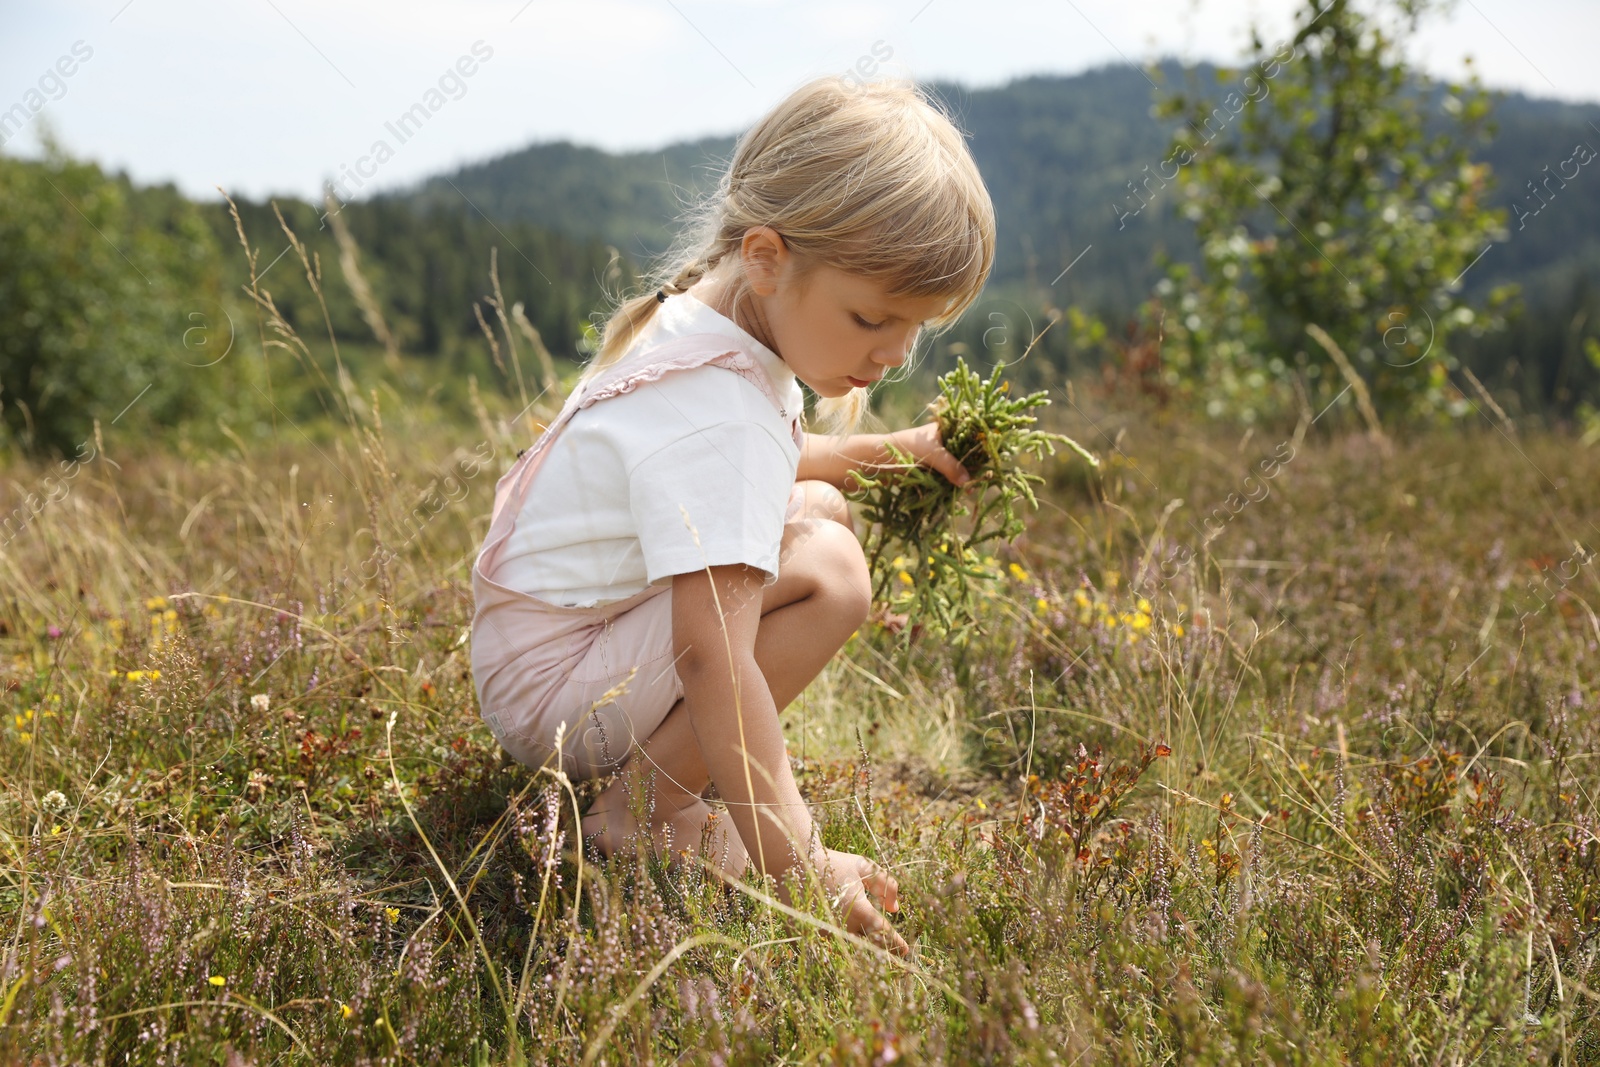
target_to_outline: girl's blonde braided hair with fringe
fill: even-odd
[[[643,296],[616,299],[579,382],[627,354],[656,314],[656,291],[688,291],[731,259],[733,304],[750,294],[739,258],[752,227],[770,226],[795,256],[795,280],[819,266],[869,277],[890,296],[947,296],[930,336],[973,306],[995,256],[995,216],[962,133],[915,82],[806,82],[733,150],[715,192],[685,213]],[[866,389],[818,398],[832,434],[866,413]]]

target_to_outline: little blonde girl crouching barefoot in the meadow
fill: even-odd
[[[894,878],[821,846],[778,717],[870,608],[848,474],[894,443],[970,480],[936,424],[851,430],[923,326],[978,299],[994,250],[978,166],[922,90],[816,78],[739,139],[498,483],[472,571],[480,709],[531,768],[618,774],[582,821],[602,853],[709,824],[730,875],[754,862],[787,894],[814,870],[848,929],[906,952],[867,896],[898,910]],[[800,382],[829,435],[803,432]]]

